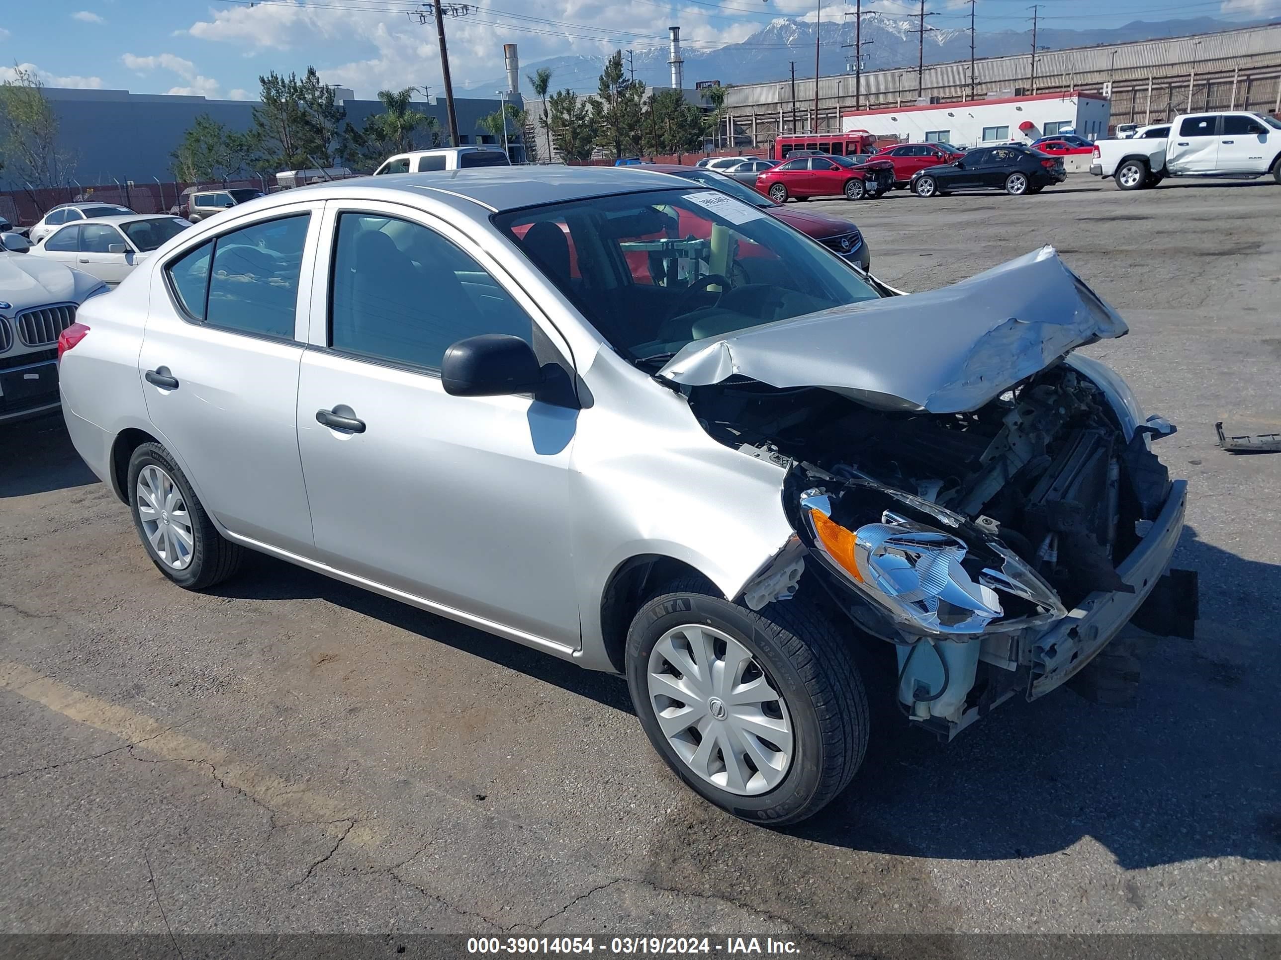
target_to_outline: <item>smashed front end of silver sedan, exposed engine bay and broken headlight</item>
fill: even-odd
[[[1166,575],[1186,485],[1171,481],[1150,451],[1173,428],[1140,421],[1107,367],[1065,358],[1072,348],[1065,344],[1125,328],[1058,268],[1041,279],[1066,274],[1071,283],[1057,293],[1077,300],[1041,316],[1071,323],[1016,320],[1008,297],[968,289],[971,303],[986,298],[993,320],[953,317],[957,326],[986,324],[1007,344],[1012,324],[1054,326],[991,375],[975,365],[993,348],[981,332],[957,358],[959,378],[948,379],[948,364],[935,358],[935,381],[907,398],[883,389],[902,370],[880,370],[875,388],[865,378],[801,387],[785,358],[769,357],[770,369],[753,372],[743,365],[756,362],[753,352],[722,342],[710,352],[722,361],[737,352],[737,362],[688,390],[712,436],[787,470],[784,509],[797,536],[748,584],[744,603],[758,609],[806,579],[821,582],[865,632],[895,645],[898,700],[944,737],[1018,692],[1035,699],[1079,675],[1132,618],[1143,620],[1154,590],[1167,598],[1162,632],[1187,635],[1196,616],[1195,576],[1182,573],[1172,590]],[[899,319],[910,323],[903,301],[918,296],[895,298]],[[1085,315],[1112,333],[1091,334],[1079,323]],[[908,353],[912,332],[898,337]],[[831,369],[833,351],[817,352]],[[1179,594],[1173,609],[1168,598]]]

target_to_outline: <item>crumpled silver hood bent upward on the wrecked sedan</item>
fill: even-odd
[[[1053,247],[926,293],[853,303],[694,340],[657,374],[824,387],[874,410],[972,411],[1125,321]]]

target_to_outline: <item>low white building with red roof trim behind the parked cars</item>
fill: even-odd
[[[1109,115],[1111,104],[1097,97],[1018,97],[995,102],[847,111],[840,119],[840,129],[865,129],[877,137],[898,137],[910,143],[924,141],[927,133],[942,132],[942,136],[931,138],[971,147],[984,142],[1035,140],[1044,136],[1047,123],[1071,124],[1077,134],[1091,140],[1104,137]],[[1024,132],[1020,131],[1022,123],[1032,125]],[[988,141],[984,140],[985,131]]]

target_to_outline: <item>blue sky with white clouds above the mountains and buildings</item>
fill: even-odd
[[[502,76],[502,44],[523,64],[614,47],[661,46],[679,23],[687,44],[747,38],[780,15],[824,19],[853,0],[482,0],[447,23],[456,87]],[[441,91],[434,27],[415,0],[5,0],[0,79],[35,67],[49,86],[136,93],[252,97],[257,76],[314,64],[324,81],[373,96],[383,87]],[[977,0],[979,29],[1026,29],[1030,0]],[[863,0],[901,13],[917,0]],[[927,0],[939,27],[967,27],[968,0]],[[1114,27],[1135,19],[1281,17],[1281,0],[1043,0],[1047,26]],[[593,84],[594,86],[594,84]]]

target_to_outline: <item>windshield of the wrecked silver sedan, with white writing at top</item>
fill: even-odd
[[[719,191],[592,197],[493,223],[646,366],[693,340],[880,296],[820,243]]]

